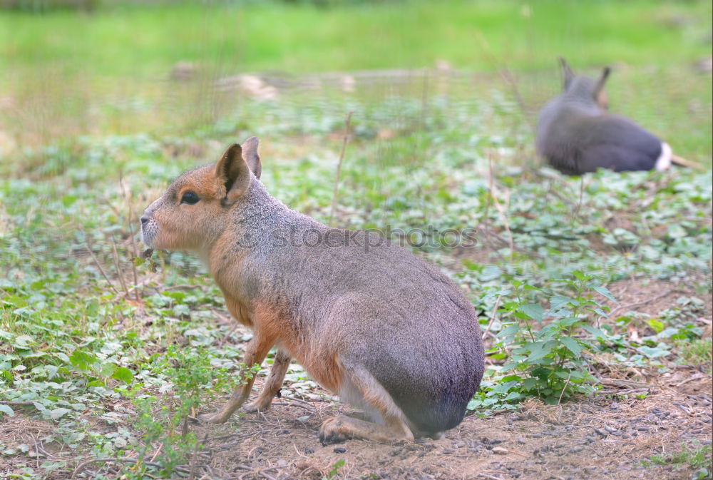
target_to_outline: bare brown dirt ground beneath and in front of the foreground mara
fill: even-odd
[[[319,425],[353,411],[327,401],[276,399],[269,412],[236,416],[220,426],[191,426],[205,439],[205,449],[193,459],[195,479],[689,479],[691,472],[683,466],[644,466],[642,461],[682,445],[711,442],[711,377],[677,387],[692,374],[687,369],[662,378],[658,393],[645,399],[597,395],[560,406],[528,402],[515,412],[473,415],[445,438],[418,443],[349,440],[323,446],[317,439]],[[31,452],[0,458],[0,472],[34,464],[32,451],[40,451],[42,460],[56,456],[41,443],[48,429],[48,422],[20,415],[4,419],[0,438],[6,447],[24,443]],[[340,460],[344,465],[334,474]],[[78,463],[70,459],[68,469],[48,478],[68,478]],[[79,478],[93,478],[108,466],[83,467]]]

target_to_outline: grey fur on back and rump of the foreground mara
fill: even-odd
[[[483,344],[458,287],[404,248],[376,245],[374,234],[289,210],[257,181],[245,196],[235,215],[255,235],[235,239],[247,250],[245,285],[272,292],[310,348],[327,341],[344,362],[364,365],[416,429],[461,422],[483,376]]]

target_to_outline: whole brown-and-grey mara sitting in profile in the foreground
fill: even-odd
[[[322,424],[323,443],[438,437],[456,427],[483,376],[478,318],[446,275],[404,248],[360,247],[365,232],[328,228],[290,210],[260,182],[257,138],[176,179],[143,213],[149,247],[200,255],[233,317],[252,328],[247,368],[277,347],[257,398],[239,382],[220,411],[270,408],[291,359],[364,410]],[[329,241],[285,241],[285,232]],[[351,240],[351,241],[349,241]]]

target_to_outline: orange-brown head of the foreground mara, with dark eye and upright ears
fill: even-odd
[[[230,145],[217,163],[180,175],[144,210],[141,239],[148,247],[203,250],[225,230],[227,214],[260,178],[257,138]]]

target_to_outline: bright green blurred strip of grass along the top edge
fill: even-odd
[[[87,68],[98,77],[162,75],[181,60],[236,71],[419,68],[445,59],[493,70],[550,68],[557,55],[586,66],[665,64],[710,54],[707,1],[390,1],[309,4],[165,4],[105,7],[88,15],[0,12],[12,31],[4,70]],[[21,70],[22,71],[22,70]]]

